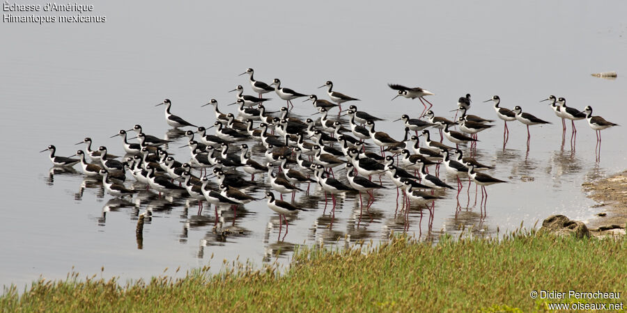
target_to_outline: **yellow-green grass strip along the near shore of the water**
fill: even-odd
[[[301,247],[282,275],[242,266],[186,278],[38,281],[0,297],[4,311],[469,311],[545,310],[532,290],[626,291],[627,241],[516,232],[504,239],[398,237],[353,250]],[[626,294],[627,296],[627,294]],[[563,300],[562,300],[563,301]],[[575,302],[566,299],[565,302]],[[620,300],[581,300],[584,303]]]

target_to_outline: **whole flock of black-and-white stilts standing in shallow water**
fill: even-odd
[[[476,148],[477,133],[493,127],[494,120],[467,114],[470,109],[470,95],[458,99],[458,108],[454,120],[435,116],[431,107],[433,104],[424,97],[433,93],[422,88],[408,88],[390,84],[389,87],[397,90],[396,97],[419,99],[424,105],[418,118],[402,115],[396,121],[402,121],[405,129],[405,138],[396,140],[389,134],[376,131],[376,122],[382,120],[369,113],[359,111],[357,106],[351,105],[342,110],[344,102],[358,101],[333,90],[332,81],[327,81],[319,88],[327,88],[327,95],[331,101],[318,99],[316,95],[297,93],[294,90],[281,86],[279,79],[274,79],[270,85],[254,79],[254,70],[249,68],[242,73],[249,75],[251,88],[258,96],[244,95],[244,88],[238,86],[233,92],[237,93],[236,113],[222,113],[217,101],[212,99],[208,104],[215,111],[215,122],[209,127],[198,127],[183,118],[171,113],[172,102],[165,99],[157,106],[165,106],[165,118],[171,127],[182,129],[191,127],[193,130],[183,131],[187,137],[187,146],[190,151],[189,161],[181,163],[167,151],[170,141],[144,134],[140,125],[132,129],[120,130],[115,136],[122,138],[123,149],[126,152],[123,161],[109,154],[107,147],[100,146],[98,150],[91,150],[91,138],[84,138],[78,144],[86,144],[86,150],[78,150],[72,157],[57,157],[56,148],[49,145],[50,159],[54,166],[70,167],[81,163],[85,175],[102,176],[102,183],[108,193],[115,197],[132,196],[136,190],[124,185],[126,173],[138,182],[146,184],[146,188],[153,188],[161,193],[185,193],[198,200],[199,214],[203,201],[219,205],[231,205],[236,209],[238,205],[259,200],[246,193],[251,186],[261,186],[267,191],[265,198],[268,207],[281,216],[294,214],[306,209],[297,207],[293,200],[297,191],[303,191],[300,184],[318,184],[325,192],[331,194],[333,211],[336,206],[335,195],[339,193],[359,193],[362,202],[362,193],[369,195],[367,207],[370,207],[375,197],[373,190],[385,188],[382,184],[382,175],[388,177],[394,185],[401,188],[408,205],[419,207],[427,206],[433,209],[435,200],[442,198],[443,190],[454,189],[443,182],[439,177],[439,166],[444,164],[447,172],[457,177],[458,194],[461,189],[460,177],[468,177],[469,181],[481,186],[482,201],[486,195],[486,186],[504,183],[503,180],[486,175],[481,170],[491,169],[472,157],[464,157],[459,144],[470,145],[470,152]],[[275,92],[285,100],[287,105],[280,111],[271,114],[265,110],[264,103],[269,98],[262,97],[265,93]],[[289,116],[293,108],[292,100],[306,97],[304,102],[312,102],[315,114],[320,118],[314,120],[300,120]],[[394,98],[396,98],[394,97]],[[392,99],[394,99],[392,98]],[[550,124],[534,115],[522,112],[520,106],[513,110],[500,106],[500,97],[495,95],[486,102],[492,101],[498,118],[504,120],[504,143],[509,138],[508,121],[518,120],[527,125],[527,146],[531,135],[530,125]],[[566,131],[565,119],[573,121],[575,134],[575,120],[586,119],[589,126],[597,131],[597,145],[601,142],[601,129],[616,126],[599,116],[592,116],[592,109],[587,106],[584,111],[566,106],[566,99],[550,96],[543,101],[550,101],[555,114],[562,118],[563,131]],[[428,104],[428,105],[427,105]],[[229,104],[230,105],[230,104]],[[329,112],[336,107],[339,109],[338,118],[332,119]],[[459,117],[458,117],[459,115]],[[348,121],[342,122],[341,116],[347,116]],[[238,119],[240,118],[240,119]],[[255,125],[255,122],[258,122]],[[400,126],[399,126],[400,127]],[[453,130],[457,127],[458,131]],[[215,134],[208,130],[215,128]],[[428,128],[440,131],[440,142],[433,141]],[[137,132],[137,143],[129,143],[127,131]],[[410,136],[414,131],[415,135]],[[420,132],[420,134],[419,134]],[[420,137],[424,138],[424,145],[420,145]],[[446,137],[455,147],[442,143]],[[251,159],[251,147],[247,143],[261,143],[265,149],[263,159]],[[380,153],[369,151],[369,147],[377,145]],[[233,152],[239,149],[239,152]],[[388,152],[388,155],[386,155]],[[87,157],[92,163],[87,161]],[[395,158],[396,157],[396,158]],[[186,158],[187,159],[187,158]],[[432,175],[428,166],[435,166]],[[335,177],[333,169],[346,168],[344,177]],[[210,174],[208,169],[212,168]],[[200,170],[201,175],[194,175],[192,170]],[[409,170],[409,171],[408,171]],[[242,177],[242,172],[251,175],[251,179]],[[267,173],[268,183],[259,182],[254,175]],[[379,183],[373,182],[371,177],[378,175]],[[367,178],[366,178],[367,177]],[[175,182],[178,181],[178,184]],[[279,193],[277,199],[274,192]],[[309,185],[307,187],[309,192]],[[283,200],[283,194],[292,193],[292,202]],[[363,203],[363,202],[362,202]],[[428,207],[431,204],[431,207]],[[216,209],[217,210],[217,209]],[[217,211],[216,211],[217,214]],[[431,214],[433,216],[433,214]],[[286,227],[288,225],[285,220]]]

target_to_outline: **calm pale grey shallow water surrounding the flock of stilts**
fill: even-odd
[[[521,222],[531,227],[556,213],[587,220],[598,209],[591,208],[594,202],[585,197],[582,182],[625,167],[624,127],[603,131],[597,162],[596,137],[586,123],[577,122],[574,150],[568,125],[562,147],[560,121],[546,102],[539,103],[555,94],[566,97],[569,106],[591,105],[595,115],[626,124],[621,121],[627,114],[621,77],[627,72],[624,1],[348,2],[300,8],[287,2],[219,7],[164,2],[145,8],[108,1],[95,6],[108,16],[106,23],[1,26],[7,49],[0,58],[0,144],[5,147],[0,284],[24,286],[40,275],[65,278],[72,266],[86,275],[104,266],[105,277],[123,280],[149,278],[164,268],[172,274],[178,266],[210,264],[218,271],[223,259],[238,256],[258,265],[288,262],[301,243],[343,246],[347,239],[380,241],[403,231],[437,239],[442,232],[456,234],[471,226],[489,234]],[[394,189],[376,192],[376,201],[362,214],[358,196],[343,196],[332,218],[323,193],[311,185],[309,195],[296,197],[309,211],[289,220],[286,235],[284,229],[279,234],[279,218],[265,201],[240,207],[236,218],[225,209],[215,225],[212,210],[198,217],[196,203],[185,198],[159,199],[144,192],[132,202],[116,200],[99,182],[84,178],[79,166],[57,172],[45,154],[37,153],[54,144],[58,155],[70,155],[84,149],[74,143],[90,136],[96,146],[121,155],[119,138],[109,136],[138,123],[147,134],[168,136],[163,107],[154,107],[165,97],[172,99],[173,113],[212,125],[210,106],[200,106],[216,98],[222,111],[233,110],[226,106],[234,99],[228,90],[241,84],[251,94],[247,79],[237,76],[247,67],[255,68],[256,79],[278,77],[285,87],[323,99],[323,89],[316,87],[331,79],[336,90],[362,99],[359,109],[386,119],[377,130],[398,139],[403,127],[390,121],[403,113],[415,117],[423,106],[418,100],[391,102],[395,93],[386,83],[431,90],[436,95],[427,99],[436,115],[452,118],[456,99],[471,93],[470,113],[496,119],[491,104],[481,101],[497,94],[502,106],[520,105],[553,125],[531,127],[528,151],[525,127],[518,122],[509,123],[505,148],[501,120],[479,134],[477,159],[496,166],[490,175],[510,182],[488,187],[485,214],[479,208],[481,192],[475,203],[474,186],[467,191],[464,182],[458,198],[449,191],[435,203],[433,220],[417,209],[407,218],[398,213]],[[590,75],[610,70],[618,72],[617,79]],[[284,106],[269,96],[274,98],[270,110]],[[294,104],[294,114],[314,112],[309,103]],[[170,150],[187,161],[187,149],[178,148],[182,144],[179,138]],[[447,182],[455,184],[450,177]],[[135,225],[146,209],[154,215],[139,249]],[[222,232],[227,229],[236,231]],[[277,240],[279,235],[284,240]]]

